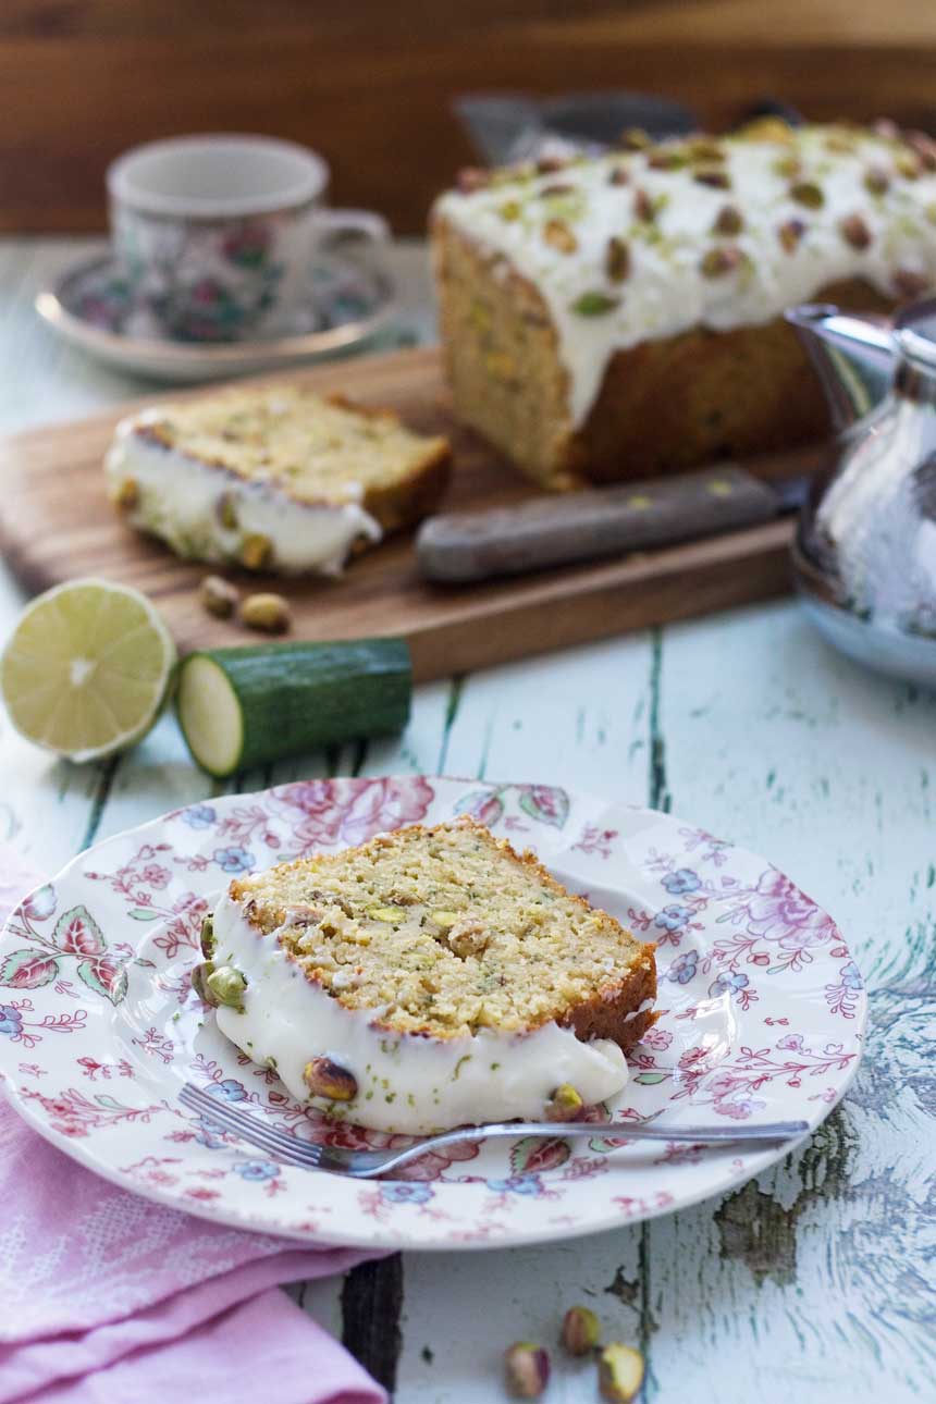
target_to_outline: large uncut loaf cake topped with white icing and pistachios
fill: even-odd
[[[790,128],[463,173],[432,215],[457,416],[546,487],[814,437],[783,309],[936,285],[936,143]]]

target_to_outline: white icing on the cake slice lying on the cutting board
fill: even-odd
[[[139,501],[125,512],[126,521],[160,536],[177,555],[236,563],[243,538],[261,535],[282,574],[334,576],[356,536],[380,541],[379,524],[359,505],[358,484],[348,486],[347,503],[296,503],[269,483],[225,475],[142,438],[135,430],[146,418],[143,411],[118,424],[105,470],[112,494],[129,479],[138,486]],[[222,521],[222,497],[234,505],[234,529]]]

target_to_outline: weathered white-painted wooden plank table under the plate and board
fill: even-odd
[[[3,431],[140,393],[32,314],[49,270],[84,247],[0,243]],[[422,250],[399,246],[394,260],[403,326],[431,336]],[[4,636],[21,600],[4,578]],[[218,793],[171,719],[125,760],[86,769],[0,726],[0,837],[46,870]],[[396,1366],[403,1404],[497,1400],[504,1345],[549,1344],[580,1300],[646,1352],[647,1400],[936,1400],[936,699],[835,657],[789,601],[424,687],[400,741],[247,783],[351,767],[580,786],[768,855],[846,932],[871,1028],[843,1106],[737,1193],[560,1247],[406,1255],[358,1269],[344,1292],[309,1287],[307,1309],[341,1334],[344,1299],[347,1337],[385,1376]],[[591,1398],[582,1379],[560,1366],[549,1398]]]

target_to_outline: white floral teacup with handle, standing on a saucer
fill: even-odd
[[[324,208],[328,174],[314,152],[268,136],[181,136],[121,156],[107,184],[133,296],[178,340],[275,334],[328,243],[379,251],[389,239],[380,215]]]

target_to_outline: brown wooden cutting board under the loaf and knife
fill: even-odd
[[[288,379],[344,390],[397,410],[413,428],[448,434],[455,466],[446,508],[519,501],[533,491],[487,445],[456,427],[435,348],[344,361]],[[136,403],[181,397],[149,396]],[[209,567],[177,560],[159,542],[138,535],[107,501],[104,453],[114,424],[135,407],[0,442],[6,559],[36,591],[91,574],[136,585],[159,604],[185,649],[255,642],[258,635],[201,609],[198,585]],[[815,468],[818,455],[811,446],[745,466],[780,476]],[[417,680],[428,681],[782,594],[789,588],[791,532],[784,518],[620,560],[469,587],[425,584],[410,535],[361,556],[337,581],[229,574],[253,588],[288,595],[295,637],[404,635]]]

